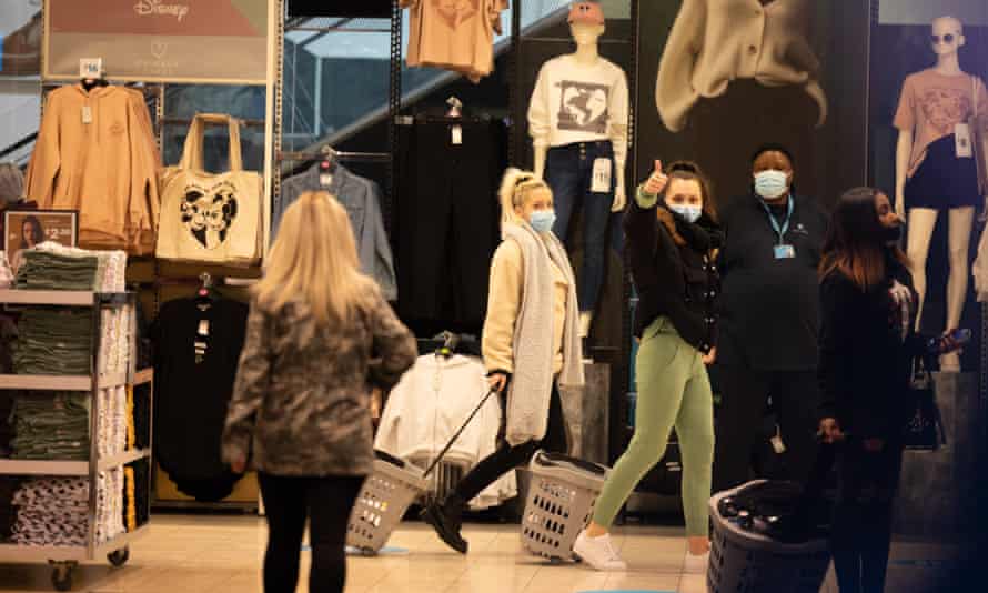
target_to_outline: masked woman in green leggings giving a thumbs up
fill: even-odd
[[[664,171],[656,161],[655,172],[628,207],[624,228],[639,295],[635,434],[573,551],[598,571],[627,569],[611,543],[611,526],[638,482],[662,460],[675,428],[683,454],[687,563],[705,566],[697,559],[710,550],[707,501],[714,462],[714,401],[706,366],[716,358],[719,285],[714,261],[720,231],[699,168],[680,161]]]

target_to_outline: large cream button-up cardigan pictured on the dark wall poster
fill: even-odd
[[[686,127],[700,98],[724,94],[735,79],[803,87],[827,120],[819,60],[809,46],[809,0],[684,0],[658,67],[655,103],[666,128]]]

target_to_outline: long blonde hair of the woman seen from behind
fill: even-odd
[[[269,312],[304,302],[316,323],[326,325],[350,320],[377,290],[360,272],[346,209],[329,193],[315,191],[303,193],[285,211],[254,293]]]

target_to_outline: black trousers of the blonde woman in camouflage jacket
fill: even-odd
[[[305,520],[312,546],[309,591],[342,593],[346,582],[346,524],[364,479],[294,478],[260,473],[268,519],[264,593],[294,593]]]

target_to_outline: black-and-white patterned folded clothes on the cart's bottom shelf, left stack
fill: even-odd
[[[11,541],[19,545],[85,545],[89,534],[89,480],[36,478],[13,493],[18,506]]]

